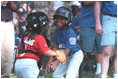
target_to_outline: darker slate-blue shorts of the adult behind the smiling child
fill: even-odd
[[[101,36],[96,34],[94,27],[80,27],[81,49],[85,52],[102,53]]]

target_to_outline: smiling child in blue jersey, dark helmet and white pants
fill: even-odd
[[[72,12],[69,8],[59,7],[53,18],[54,24],[57,26],[53,37],[53,42],[55,43],[54,50],[56,52],[62,50],[67,56],[67,61],[62,64],[59,60],[55,60],[54,57],[50,57],[47,69],[51,68],[54,70],[53,78],[64,78],[65,74],[66,78],[77,78],[79,77],[79,68],[83,61],[83,52],[77,43],[74,30],[69,27]],[[57,51],[57,49],[60,50]]]

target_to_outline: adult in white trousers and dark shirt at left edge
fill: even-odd
[[[0,51],[1,77],[8,78],[13,66],[14,26],[13,12],[18,9],[19,2],[1,1]]]

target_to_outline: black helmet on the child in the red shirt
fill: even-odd
[[[42,34],[44,30],[46,30],[48,26],[48,17],[43,12],[34,12],[30,13],[27,20],[27,30],[33,31],[39,34]]]

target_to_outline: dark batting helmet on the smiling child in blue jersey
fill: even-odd
[[[59,7],[56,10],[56,13],[55,13],[55,15],[53,15],[53,17],[54,17],[54,19],[56,19],[58,17],[64,17],[65,19],[67,19],[66,25],[68,26],[71,23],[72,11],[66,7]]]

